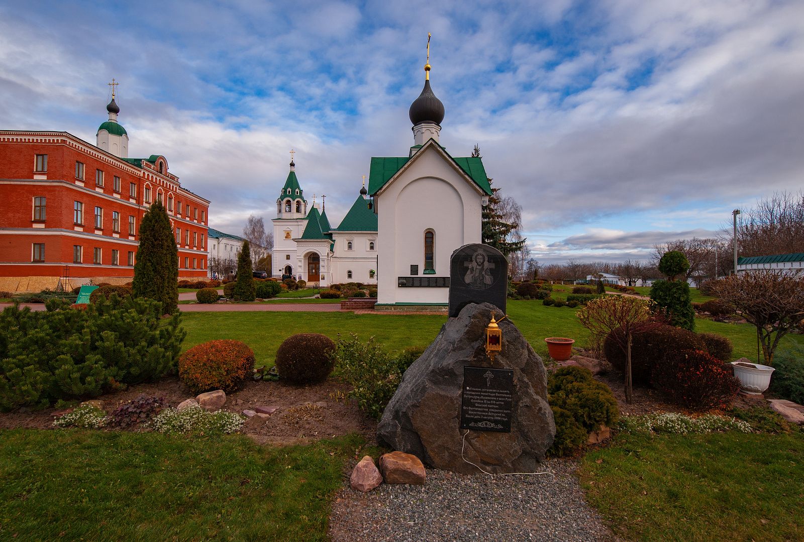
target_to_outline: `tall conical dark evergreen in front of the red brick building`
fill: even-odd
[[[162,314],[173,314],[178,310],[178,252],[161,201],[151,205],[142,217],[139,236],[133,297],[155,299],[162,302]]]

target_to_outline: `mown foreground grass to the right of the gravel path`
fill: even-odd
[[[580,478],[629,540],[802,540],[802,457],[801,432],[621,433],[583,458]]]

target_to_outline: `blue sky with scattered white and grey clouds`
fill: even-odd
[[[424,84],[542,264],[647,260],[804,186],[804,2],[10,2],[0,129],[94,143],[115,78],[129,156],[162,154],[212,228],[276,217],[289,150],[338,224],[406,156]]]

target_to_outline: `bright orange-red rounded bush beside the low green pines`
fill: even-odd
[[[232,339],[195,345],[178,359],[178,377],[194,393],[233,392],[251,376],[253,368],[252,349]]]

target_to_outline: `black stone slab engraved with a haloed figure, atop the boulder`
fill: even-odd
[[[505,312],[508,261],[487,244],[465,244],[449,259],[449,316],[469,303],[491,303]]]

